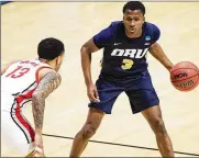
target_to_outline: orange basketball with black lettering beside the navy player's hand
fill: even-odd
[[[199,84],[199,69],[190,61],[180,61],[173,67],[170,81],[179,91],[191,91]]]

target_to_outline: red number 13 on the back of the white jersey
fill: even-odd
[[[11,78],[20,78],[26,72],[29,72],[30,68],[24,68],[22,66],[18,66],[12,72],[8,74],[5,77],[11,77]]]

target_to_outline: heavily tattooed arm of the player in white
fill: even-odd
[[[45,99],[60,84],[60,76],[48,72],[40,81],[32,97],[32,111],[35,128],[42,131],[44,120]]]

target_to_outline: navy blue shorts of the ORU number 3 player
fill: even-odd
[[[114,81],[99,77],[96,82],[100,102],[90,102],[89,108],[96,108],[111,114],[112,106],[120,93],[129,97],[132,113],[142,112],[159,104],[159,99],[153,87],[148,71],[142,74],[136,80]]]

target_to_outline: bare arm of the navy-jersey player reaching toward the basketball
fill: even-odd
[[[173,63],[167,58],[158,43],[153,44],[148,50],[168,71],[173,68]]]

